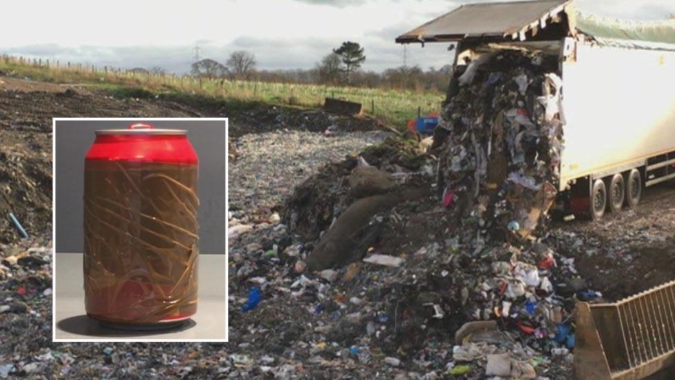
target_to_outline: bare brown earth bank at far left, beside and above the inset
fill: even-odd
[[[113,98],[102,91],[0,79],[0,242],[20,237],[10,212],[29,235],[52,228],[52,118],[202,115],[171,100]]]

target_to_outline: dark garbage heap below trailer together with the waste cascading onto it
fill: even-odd
[[[419,152],[409,168],[364,152],[326,172],[332,186],[317,186],[321,175],[299,186],[283,221],[319,239],[277,250],[288,283],[275,282],[272,294],[288,289],[315,303],[324,338],[338,345],[377,350],[391,363],[444,362],[436,374],[534,378],[553,361],[570,365],[575,300],[601,295],[585,288],[548,235],[536,236],[555,200],[563,148],[556,71],[555,59],[518,51],[456,71],[441,113],[441,205],[429,202],[431,191],[416,198],[402,183],[353,191],[360,175],[371,184],[382,173],[433,177],[425,170],[433,156]],[[378,201],[384,207],[372,206]],[[259,281],[264,297],[271,284]]]

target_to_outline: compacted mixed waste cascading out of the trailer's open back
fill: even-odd
[[[499,226],[527,237],[559,180],[564,118],[557,62],[506,51],[460,68],[439,124],[447,131],[443,206],[483,230]]]

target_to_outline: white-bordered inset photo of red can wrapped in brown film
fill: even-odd
[[[227,119],[53,128],[53,340],[227,341]]]

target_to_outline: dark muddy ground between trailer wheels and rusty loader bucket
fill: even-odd
[[[675,183],[645,189],[635,209],[552,224],[560,253],[609,300],[675,280]]]

